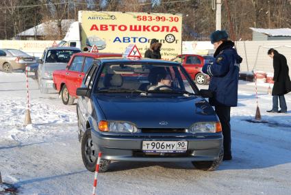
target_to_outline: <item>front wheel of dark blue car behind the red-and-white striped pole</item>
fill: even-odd
[[[94,146],[91,131],[87,129],[81,140],[81,155],[84,162],[84,166],[87,170],[94,172],[98,159],[98,148]],[[99,172],[106,172],[109,169],[110,160],[101,159],[99,164]]]

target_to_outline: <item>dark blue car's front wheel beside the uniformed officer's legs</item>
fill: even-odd
[[[212,171],[216,170],[223,161],[223,148],[220,148],[218,158],[215,161],[192,161],[195,168],[199,170]]]

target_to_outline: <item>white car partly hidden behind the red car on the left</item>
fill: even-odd
[[[76,47],[48,47],[38,60],[38,86],[40,92],[53,89],[53,70],[64,70],[74,53],[81,52]]]

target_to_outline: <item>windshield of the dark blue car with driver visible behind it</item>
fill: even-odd
[[[194,83],[181,67],[169,64],[107,64],[94,90],[97,93],[152,94],[194,94],[195,91]]]

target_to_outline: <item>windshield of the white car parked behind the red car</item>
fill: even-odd
[[[75,49],[53,49],[47,52],[45,62],[47,63],[68,63],[74,53],[80,51]]]

